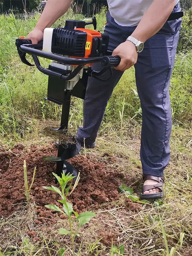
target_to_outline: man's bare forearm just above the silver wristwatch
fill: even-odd
[[[155,0],[143,15],[132,36],[144,43],[155,35],[163,27],[174,5],[175,0]]]

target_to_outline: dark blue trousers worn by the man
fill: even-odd
[[[179,12],[177,4],[173,12]],[[169,140],[172,117],[169,84],[179,39],[181,19],[168,21],[144,44],[135,64],[137,90],[142,108],[140,157],[143,173],[163,176],[170,158]],[[109,50],[113,51],[132,34],[136,27],[122,27],[107,13],[105,34],[109,35]],[[101,65],[94,65],[100,70]],[[114,70],[110,82],[89,78],[84,100],[84,122],[77,136],[95,141],[105,108],[123,72]],[[107,76],[107,74],[106,74]]]

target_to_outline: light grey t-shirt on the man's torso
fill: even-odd
[[[137,26],[154,0],[107,0],[109,12],[117,24]],[[161,1],[161,0],[159,0]],[[175,0],[177,4],[179,0]]]

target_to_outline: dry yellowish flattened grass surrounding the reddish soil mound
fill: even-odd
[[[100,132],[95,149],[86,149],[86,154],[95,156],[95,161],[105,161],[112,168],[124,172],[131,184],[137,186],[139,195],[142,185],[142,170],[139,158],[140,128],[132,129],[132,136],[125,137],[126,129],[110,132],[108,135]],[[101,136],[102,133],[102,136]],[[117,135],[118,134],[118,135]],[[192,255],[192,150],[191,131],[173,128],[171,139],[171,161],[165,171],[165,197],[156,207],[153,202],[144,204],[140,212],[131,212],[124,204],[125,196],[118,202],[101,205],[95,209],[97,217],[89,225],[80,230],[76,239],[76,248],[81,244],[79,255],[91,255],[92,244],[101,236],[115,234],[117,244],[125,245],[124,255],[166,255],[165,243],[159,216],[162,219],[169,250],[176,247],[176,255]],[[108,162],[101,153],[108,152],[116,156],[116,162]],[[81,151],[84,154],[84,150]],[[123,156],[123,157],[122,157]],[[76,188],[78,189],[78,187]],[[36,225],[35,204],[23,205],[23,210],[14,213],[9,218],[0,220],[0,255],[57,255],[61,247],[69,248],[70,240],[58,234],[60,227],[67,227],[66,220],[58,220],[54,226]],[[34,230],[41,241],[33,242],[28,237],[28,231]],[[184,233],[181,243],[180,233]],[[27,246],[18,245],[28,238]],[[46,241],[46,243],[45,243]],[[47,244],[47,245],[46,245]],[[110,255],[110,245],[100,244],[98,255]],[[92,255],[96,255],[93,253]]]

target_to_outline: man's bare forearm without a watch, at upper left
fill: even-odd
[[[73,0],[48,0],[39,18],[36,27],[41,31],[49,28],[52,24],[67,12]]]

